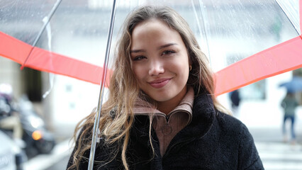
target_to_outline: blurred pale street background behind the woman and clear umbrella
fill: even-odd
[[[298,2],[298,0],[293,1]],[[54,2],[55,0],[43,1],[45,4],[41,5],[37,0],[22,2],[26,4],[23,5],[20,1],[0,1],[0,31],[32,45],[35,35],[43,24],[44,15],[41,13],[49,11]],[[272,10],[279,8],[274,4],[275,1],[246,0],[237,5],[240,8],[233,8],[236,7],[235,0],[229,0],[230,4],[219,1],[220,5],[217,5],[218,0],[209,0],[205,4],[201,1],[188,3],[180,0],[173,2],[137,0],[132,3],[120,1],[118,4],[121,8],[116,13],[113,46],[119,28],[129,12],[128,8],[148,2],[171,5],[186,18],[196,33],[202,50],[209,57],[214,72],[297,36],[296,30],[291,28],[292,23],[282,16],[284,13]],[[211,4],[214,5],[210,6]],[[192,6],[203,6],[204,9],[192,10]],[[18,13],[18,11],[26,12]],[[110,11],[111,1],[62,1],[50,21],[51,28],[45,30],[36,46],[103,67]],[[242,11],[256,13],[256,17],[235,16]],[[38,14],[35,16],[33,13]],[[214,14],[217,13],[220,16],[226,16],[225,13],[230,14],[230,20],[215,18]],[[198,16],[199,14],[208,18]],[[28,18],[40,19],[30,21]],[[242,24],[247,18],[251,20],[250,24]],[[258,20],[265,24],[255,25],[254,21]],[[281,23],[281,20],[288,23]],[[241,30],[245,25],[252,26],[248,28],[250,32]],[[233,35],[238,36],[233,38]],[[208,42],[205,42],[206,40]],[[272,61],[263,62],[267,62],[267,65],[275,64]],[[27,67],[20,69],[20,67],[20,64],[0,56],[0,86],[3,84],[6,87],[4,91],[9,91],[12,100],[16,102],[27,96],[33,111],[38,115],[33,118],[33,123],[43,126],[50,133],[48,140],[55,141],[53,148],[50,147],[52,144],[50,143],[50,145],[41,145],[45,148],[40,147],[38,152],[31,152],[30,149],[28,153],[30,157],[23,163],[23,168],[26,170],[65,169],[72,152],[71,138],[75,125],[97,106],[100,86],[71,77],[40,72]],[[286,135],[282,131],[284,109],[281,107],[281,102],[288,90],[281,84],[291,81],[293,77],[301,78],[302,69],[284,72],[238,89],[237,99],[239,98],[240,102],[237,106],[232,105],[233,92],[218,96],[223,106],[233,111],[233,116],[247,125],[254,137],[264,168],[268,170],[302,169],[301,91],[294,93],[294,98],[298,101],[294,123],[296,140],[291,140],[289,120],[286,120]],[[11,89],[7,88],[8,86]],[[108,93],[107,89],[105,95],[106,93]]]

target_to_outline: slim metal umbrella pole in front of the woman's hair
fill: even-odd
[[[113,25],[114,25],[114,18],[116,16],[116,0],[113,0],[113,6],[111,11],[111,21],[110,26],[108,30],[108,40],[107,40],[107,47],[106,47],[106,55],[105,55],[105,62],[104,62],[104,71],[103,76],[101,80],[101,90],[99,94],[99,103],[96,110],[96,119],[94,120],[94,131],[92,135],[92,142],[91,142],[91,149],[90,149],[90,155],[89,155],[89,164],[88,169],[92,170],[94,168],[94,154],[96,151],[96,140],[98,137],[99,132],[99,120],[101,117],[101,106],[103,104],[103,97],[104,97],[104,88],[105,88],[105,81],[106,81],[106,75],[107,75],[107,67],[108,67],[108,59],[110,54],[110,47],[111,47],[111,39],[112,39],[112,32],[113,32]]]

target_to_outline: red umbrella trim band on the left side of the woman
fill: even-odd
[[[24,64],[26,57],[29,59]],[[62,74],[68,77],[89,81],[94,84],[101,83],[103,68],[94,64],[89,64],[80,60],[75,60],[64,55],[59,55],[55,52],[43,50],[38,47],[33,47],[25,42],[6,35],[0,32],[0,55],[7,57],[19,64],[24,64],[24,67],[30,67],[43,72],[52,72]],[[108,87],[111,71],[109,70],[106,79],[106,87]]]

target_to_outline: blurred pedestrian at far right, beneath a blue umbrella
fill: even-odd
[[[296,117],[296,107],[298,106],[298,101],[296,100],[295,94],[287,92],[284,99],[281,101],[281,107],[284,108],[284,119],[282,125],[282,132],[284,135],[284,142],[287,142],[286,134],[286,120],[291,121],[291,143],[296,142],[296,133],[295,133],[295,117]]]

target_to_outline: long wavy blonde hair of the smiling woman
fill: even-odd
[[[184,18],[172,8],[165,6],[142,6],[136,9],[128,15],[121,30],[121,38],[118,41],[115,54],[114,70],[110,79],[110,93],[108,101],[101,108],[99,123],[100,134],[106,139],[106,143],[118,142],[121,144],[117,150],[121,149],[122,151],[121,158],[125,169],[128,169],[125,152],[129,142],[130,128],[134,121],[133,105],[140,94],[138,82],[130,67],[131,35],[135,26],[150,18],[164,21],[170,28],[177,30],[179,35],[181,35],[188,50],[192,66],[187,84],[194,87],[196,95],[201,91],[210,94],[214,106],[218,110],[221,108],[213,95],[215,89],[213,72],[211,72],[208,60],[201,52],[201,48]],[[74,140],[79,130],[82,129],[82,133],[79,134],[78,142],[75,146],[73,164],[69,169],[78,169],[79,162],[84,159],[84,153],[90,149],[91,130],[94,125],[95,115],[94,111],[77,125],[74,132]],[[114,157],[116,157],[116,154]]]

